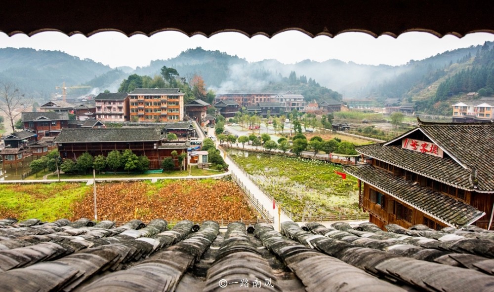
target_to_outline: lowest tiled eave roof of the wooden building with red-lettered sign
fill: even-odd
[[[429,187],[421,187],[417,183],[394,176],[369,164],[349,166],[344,170],[448,226],[469,225],[485,215],[484,212],[469,204],[455,200],[439,191],[433,191]]]

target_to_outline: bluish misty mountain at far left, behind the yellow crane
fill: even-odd
[[[55,86],[77,86],[112,70],[89,59],[60,51],[30,48],[0,49],[0,80],[10,80],[36,101],[49,100]],[[88,93],[79,90],[80,94]]]

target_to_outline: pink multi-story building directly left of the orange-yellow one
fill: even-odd
[[[96,119],[107,122],[130,120],[127,93],[100,93],[94,98]]]

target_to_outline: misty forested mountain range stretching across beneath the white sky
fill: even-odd
[[[492,43],[491,43],[492,45]],[[423,82],[438,70],[445,70],[465,56],[475,56],[482,46],[457,49],[421,60],[411,60],[402,66],[359,65],[339,60],[316,62],[304,60],[296,64],[282,64],[277,60],[249,63],[238,56],[202,48],[188,49],[177,57],[154,60],[146,67],[112,69],[89,59],[80,59],[60,51],[34,49],[0,49],[0,79],[15,82],[21,91],[38,100],[48,100],[57,92],[55,86],[64,81],[67,86],[90,85],[93,93],[105,89],[116,92],[120,82],[129,74],[160,74],[163,66],[177,70],[180,77],[190,80],[193,74],[202,75],[206,86],[215,92],[230,90],[262,91],[270,83],[279,82],[291,72],[305,75],[343,95],[343,99],[365,97],[408,97],[410,89],[428,86]],[[425,78],[427,79],[427,78]],[[434,82],[436,80],[428,80]],[[424,84],[421,84],[424,83]],[[419,90],[419,89],[417,89]],[[69,92],[84,94],[90,91]]]

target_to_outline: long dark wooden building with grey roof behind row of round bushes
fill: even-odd
[[[112,150],[130,149],[137,156],[150,160],[149,169],[160,169],[161,162],[171,157],[171,151],[187,152],[186,141],[167,143],[161,128],[75,128],[63,129],[55,144],[64,159],[77,159],[84,152],[107,156]],[[185,165],[187,167],[187,165]]]

